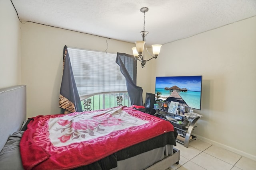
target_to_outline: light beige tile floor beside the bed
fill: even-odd
[[[180,150],[179,164],[166,170],[256,170],[256,161],[199,139],[188,148],[180,143],[175,148]]]

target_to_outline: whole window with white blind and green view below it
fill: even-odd
[[[75,48],[68,48],[68,53],[84,110],[130,106],[126,81],[116,64],[116,54]],[[136,80],[134,59],[122,61]]]

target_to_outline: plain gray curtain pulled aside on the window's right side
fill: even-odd
[[[131,104],[137,105],[137,106],[143,106],[143,100],[142,100],[143,90],[141,87],[136,86],[136,83],[134,83],[124,63],[122,62],[122,61],[125,61],[126,57],[132,57],[134,59],[133,55],[128,55],[125,53],[117,53],[116,63],[120,66],[120,71],[125,77],[127,91],[130,97]]]

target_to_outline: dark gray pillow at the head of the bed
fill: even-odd
[[[20,139],[24,131],[14,132],[0,152],[0,169],[24,170],[20,158]]]

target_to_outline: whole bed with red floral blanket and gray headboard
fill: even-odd
[[[68,115],[38,115],[26,119],[26,86],[20,85],[0,89],[0,108],[0,169],[165,170],[180,160],[180,151],[174,148],[175,130],[171,130],[170,123],[129,107]],[[74,125],[74,122],[87,121],[84,116],[92,120],[100,117],[97,119],[102,124],[95,127],[95,122],[86,122],[84,125],[89,131],[85,131],[80,124]],[[77,117],[79,119],[76,120]],[[128,125],[134,124],[135,120],[140,124]],[[168,124],[158,125],[156,122]],[[122,128],[110,132],[114,124]],[[143,132],[145,126],[149,129]],[[49,127],[63,134],[55,137],[55,133],[47,130]],[[124,135],[124,131],[132,133]],[[117,132],[119,135],[116,135]],[[83,141],[86,137],[90,139]],[[71,138],[76,141],[70,142]],[[52,142],[54,140],[60,141],[61,146]],[[95,140],[101,143],[91,145]],[[92,152],[87,154],[90,150]]]

